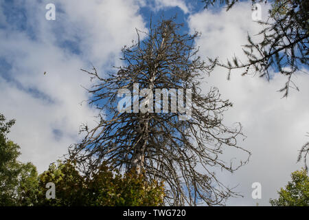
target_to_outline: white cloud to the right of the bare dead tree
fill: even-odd
[[[263,10],[266,14],[267,8]],[[257,34],[260,30],[259,25],[251,21],[249,3],[236,4],[229,12],[204,10],[193,14],[189,25],[192,31],[202,32],[196,43],[201,55],[205,58],[219,56],[221,61],[234,54],[245,61],[241,45],[247,43],[247,31]],[[252,153],[249,164],[235,174],[221,174],[222,182],[229,186],[240,184],[236,190],[244,195],[244,198],[229,199],[228,205],[255,206],[258,202],[267,206],[268,199],[276,198],[276,191],[290,181],[290,173],[302,165],[296,164],[296,160],[309,129],[309,78],[297,74],[294,81],[300,92],[291,90],[288,99],[281,99],[283,94],[277,90],[283,87],[286,77],[274,74],[268,83],[264,78],[243,77],[241,73],[232,72],[228,81],[227,70],[216,68],[205,78],[205,91],[216,86],[222,97],[233,102],[233,108],[225,114],[225,121],[227,124],[242,123],[247,139],[240,142],[240,146]],[[251,184],[255,181],[262,184],[262,199],[251,198]]]

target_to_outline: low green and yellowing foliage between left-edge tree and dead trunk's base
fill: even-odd
[[[163,184],[148,183],[135,172],[120,174],[100,166],[89,177],[81,175],[75,164],[58,162],[39,176],[35,206],[159,206],[163,203]],[[56,199],[46,199],[48,182],[56,186]]]

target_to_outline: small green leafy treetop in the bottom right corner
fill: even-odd
[[[270,199],[271,206],[309,206],[309,177],[305,169],[291,175],[292,181],[281,188],[278,199]]]

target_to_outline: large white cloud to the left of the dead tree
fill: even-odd
[[[137,1],[54,1],[56,21],[45,19],[45,3],[17,3],[27,30],[0,29],[0,58],[12,67],[0,72],[1,113],[16,118],[10,138],[21,145],[21,160],[43,171],[78,141],[80,124],[93,124],[97,115],[80,105],[89,98],[80,85],[90,86],[80,68],[93,63],[103,74],[119,63],[120,49],[144,21]]]

